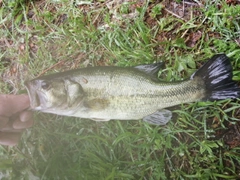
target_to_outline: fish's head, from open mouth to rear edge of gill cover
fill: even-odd
[[[70,79],[36,78],[25,85],[30,96],[31,108],[44,112],[71,108],[84,96],[81,85]]]

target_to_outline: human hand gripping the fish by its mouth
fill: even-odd
[[[0,95],[0,144],[14,146],[22,132],[33,125],[33,114],[28,111],[29,97]]]

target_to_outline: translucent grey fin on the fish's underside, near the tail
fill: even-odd
[[[143,118],[143,121],[154,125],[165,125],[172,118],[172,112],[167,109],[161,109],[153,114],[150,114]]]

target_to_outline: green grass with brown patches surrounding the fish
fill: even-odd
[[[181,16],[182,1],[3,1],[1,93],[26,92],[26,79],[86,66],[163,61],[159,77],[182,80],[221,52],[232,58],[233,78],[240,80],[240,5],[188,2]],[[35,113],[19,145],[1,147],[0,175],[238,179],[239,109],[230,100],[184,104],[172,108],[173,120],[160,127]]]

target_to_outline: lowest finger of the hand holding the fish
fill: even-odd
[[[21,133],[0,132],[0,144],[15,146],[20,140]]]

